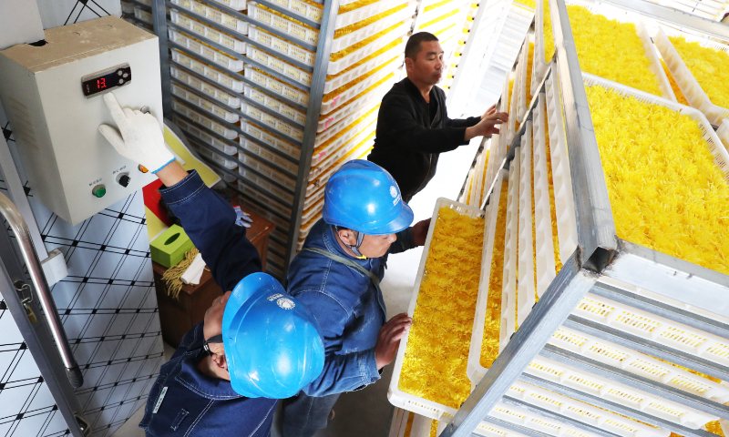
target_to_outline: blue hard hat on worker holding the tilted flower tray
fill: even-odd
[[[322,217],[330,225],[366,235],[388,235],[409,227],[413,210],[385,168],[353,159],[326,183]]]

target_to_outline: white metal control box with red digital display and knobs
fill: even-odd
[[[103,94],[162,121],[157,36],[115,16],[46,31],[45,46],[0,51],[0,98],[32,193],[72,225],[152,182],[98,125]],[[161,129],[161,127],[160,127]]]

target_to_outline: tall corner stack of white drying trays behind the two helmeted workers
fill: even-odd
[[[321,218],[323,186],[372,146],[381,97],[402,66],[416,3],[340,3],[332,55],[314,63],[323,7],[313,0],[171,0],[168,31],[175,121],[245,204],[276,224],[268,271]],[[324,69],[320,114],[307,113],[313,72]],[[307,117],[318,125],[299,232],[296,175]]]

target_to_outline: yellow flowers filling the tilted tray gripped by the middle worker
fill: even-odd
[[[407,340],[399,388],[458,408],[466,376],[481,273],[484,220],[440,208]]]

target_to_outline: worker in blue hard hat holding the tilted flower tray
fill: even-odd
[[[344,164],[324,188],[322,219],[288,270],[291,296],[322,327],[322,373],[283,401],[284,437],[308,437],[326,427],[343,391],[364,388],[393,360],[412,320],[386,320],[379,287],[387,255],[425,244],[430,219],[413,222],[395,179],[376,164]],[[386,321],[386,322],[385,322]]]

